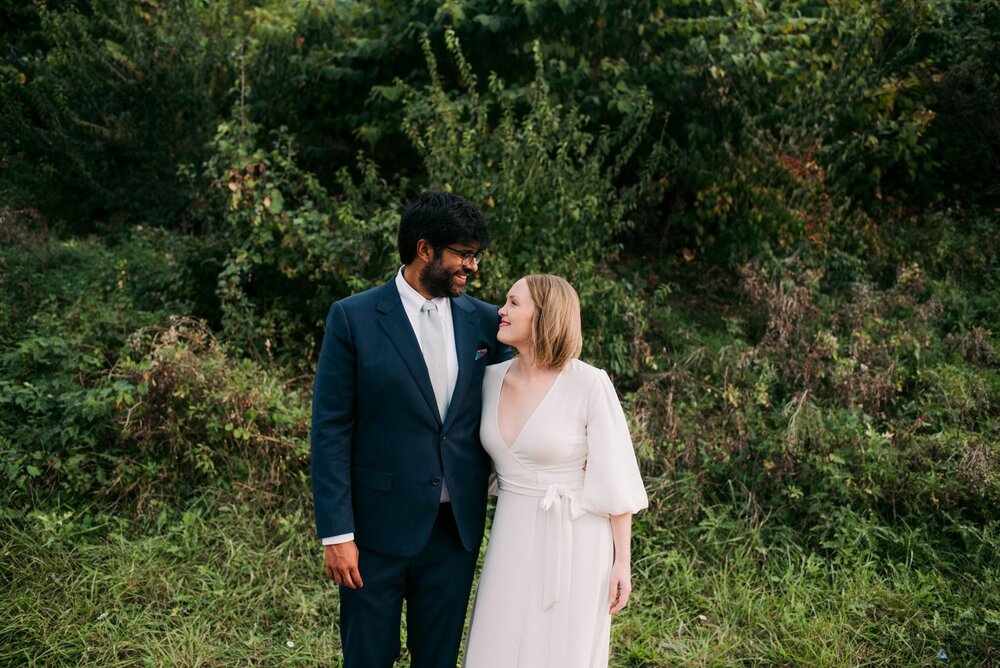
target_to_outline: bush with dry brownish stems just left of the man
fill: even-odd
[[[261,493],[305,474],[309,398],[298,388],[232,359],[197,320],[140,330],[129,343],[135,353],[111,373],[141,396],[127,397],[113,416],[138,464],[121,470],[122,491],[238,484]]]

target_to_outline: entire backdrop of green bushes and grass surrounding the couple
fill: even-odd
[[[623,396],[613,665],[1000,659],[995,1],[0,0],[0,45],[0,663],[337,664],[311,374],[425,188]]]

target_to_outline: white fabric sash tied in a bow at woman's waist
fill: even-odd
[[[538,507],[545,513],[545,582],[542,589],[542,609],[549,610],[563,596],[563,563],[572,559],[573,520],[586,511],[580,507],[580,486],[552,483],[548,486],[526,485],[500,478],[500,489],[521,494],[540,496]]]

